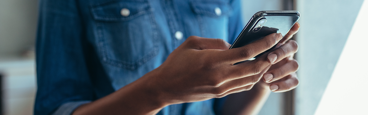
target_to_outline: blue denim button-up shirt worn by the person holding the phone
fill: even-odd
[[[242,29],[240,0],[40,0],[35,115],[70,115],[159,67],[189,36],[232,43]],[[158,115],[215,115],[217,105]]]

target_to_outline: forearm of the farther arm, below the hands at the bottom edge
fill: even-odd
[[[256,115],[265,104],[269,89],[255,85],[249,91],[230,94],[223,105],[223,115]]]

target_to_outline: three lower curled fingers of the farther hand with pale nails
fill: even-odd
[[[297,42],[290,40],[269,53],[269,55],[275,54],[277,57],[282,56],[286,58],[273,62],[268,72],[263,74],[263,80],[258,84],[264,89],[270,89],[273,92],[285,92],[296,88],[299,81],[295,72],[298,71],[299,64],[293,56],[297,50]]]

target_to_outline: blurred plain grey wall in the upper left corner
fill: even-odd
[[[0,57],[32,49],[37,9],[38,0],[0,0]]]

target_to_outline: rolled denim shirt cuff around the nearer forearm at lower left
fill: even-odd
[[[52,115],[71,115],[75,108],[79,107],[79,105],[90,103],[91,101],[74,101],[68,102],[61,105],[56,109],[54,114]]]

